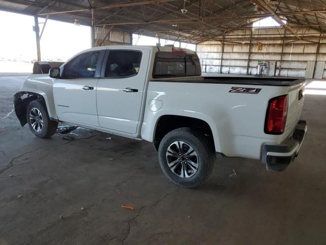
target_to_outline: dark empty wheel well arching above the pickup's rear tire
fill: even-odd
[[[203,134],[209,137],[209,140],[215,149],[213,134],[206,121],[188,116],[164,115],[158,119],[156,124],[153,140],[156,151],[158,151],[159,143],[167,133],[183,127],[193,128],[201,131]]]

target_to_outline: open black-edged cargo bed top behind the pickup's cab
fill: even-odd
[[[152,79],[151,82],[174,82],[174,83],[216,83],[216,84],[245,84],[261,86],[292,86],[303,83],[304,79],[280,78],[280,77],[183,77],[183,78],[160,78]]]

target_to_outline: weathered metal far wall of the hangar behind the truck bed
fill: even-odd
[[[280,34],[280,30],[278,28],[253,29],[252,37],[254,39],[255,33],[258,32],[265,34],[266,37],[275,37],[273,34]],[[298,33],[303,32],[301,29],[297,29],[297,31]],[[245,32],[246,30],[234,30],[227,34],[227,37],[236,37],[235,34],[244,35]],[[305,32],[310,32],[310,30],[305,29]],[[311,32],[314,33],[315,31]],[[318,54],[316,54],[318,44],[306,41],[285,44],[282,40],[260,41],[262,50],[258,50],[255,42],[251,42],[251,44],[247,40],[243,42],[245,43],[227,43],[224,44],[224,48],[223,44],[218,41],[206,41],[198,44],[197,53],[201,59],[201,64],[206,65],[207,72],[230,74],[246,74],[248,72],[248,74],[255,75],[259,60],[267,63],[274,61],[276,62],[275,76],[312,78],[315,62],[326,60],[326,40],[320,40]],[[316,64],[318,70],[315,71],[315,77],[326,76],[322,75],[326,74],[326,69],[322,68],[322,64],[324,63],[318,62]],[[222,68],[220,68],[221,65]],[[270,72],[274,73],[273,71]]]

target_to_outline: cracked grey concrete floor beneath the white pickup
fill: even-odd
[[[308,134],[286,171],[218,158],[204,186],[184,189],[165,178],[151,143],[21,128],[12,94],[24,78],[0,77],[1,245],[326,244],[326,95],[306,95]]]

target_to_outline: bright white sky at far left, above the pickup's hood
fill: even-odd
[[[39,18],[39,22],[44,22]],[[37,58],[34,17],[0,11],[0,58],[21,58],[33,60]],[[40,32],[43,24],[39,24]],[[67,60],[76,53],[91,47],[90,27],[75,26],[55,20],[47,20],[41,38],[42,60]]]

